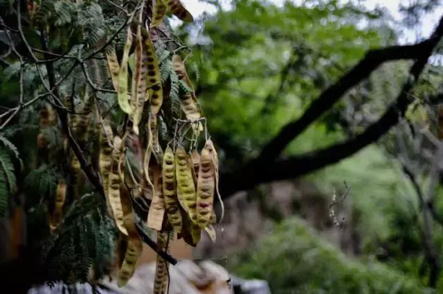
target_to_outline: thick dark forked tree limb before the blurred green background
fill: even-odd
[[[433,35],[424,42],[408,46],[392,46],[386,49],[370,51],[359,64],[349,71],[335,85],[332,85],[314,101],[298,121],[289,123],[267,144],[262,153],[242,168],[221,175],[221,191],[225,197],[236,191],[251,189],[257,184],[273,180],[286,180],[305,175],[312,171],[334,164],[354,155],[359,150],[374,143],[395,126],[404,116],[412,99],[409,92],[417,83],[428,58],[443,35],[443,18],[435,28]],[[289,142],[307,126],[328,110],[352,86],[367,77],[380,64],[390,60],[415,59],[410,68],[410,76],[394,103],[364,132],[354,138],[333,146],[297,155],[284,160],[275,160]]]

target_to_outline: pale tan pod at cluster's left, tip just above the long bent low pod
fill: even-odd
[[[122,140],[120,137],[114,137],[114,150],[112,150],[111,173],[109,173],[108,195],[111,204],[112,214],[118,230],[127,235],[126,227],[123,223],[123,208],[120,202],[120,188],[123,180],[118,173],[118,165],[121,157]]]

